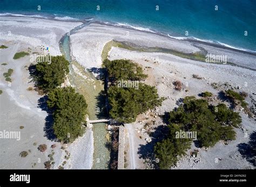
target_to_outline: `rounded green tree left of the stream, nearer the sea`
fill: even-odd
[[[69,61],[64,56],[52,56],[51,63],[38,62],[33,77],[36,86],[44,92],[49,92],[65,80],[65,76],[69,73]]]

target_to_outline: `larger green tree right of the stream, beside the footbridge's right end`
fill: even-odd
[[[110,116],[123,123],[132,123],[138,114],[159,106],[163,99],[159,99],[157,89],[139,83],[139,89],[118,88],[116,85],[107,92],[111,105]]]

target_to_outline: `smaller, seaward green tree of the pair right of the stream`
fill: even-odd
[[[142,67],[131,60],[105,60],[103,66],[107,69],[109,79],[113,82],[117,80],[131,80],[140,81],[144,80],[147,75],[143,74]]]

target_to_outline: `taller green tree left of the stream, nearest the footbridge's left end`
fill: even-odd
[[[72,87],[56,88],[48,94],[48,107],[53,109],[53,130],[60,141],[72,142],[84,133],[87,104]]]

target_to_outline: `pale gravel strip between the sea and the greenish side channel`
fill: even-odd
[[[80,41],[79,37],[77,37],[78,35],[80,38],[87,38],[88,41]],[[203,49],[207,54],[219,56],[225,54],[227,56],[227,64],[229,66],[246,68],[255,71],[254,64],[256,63],[256,54],[251,52],[234,50],[225,46],[217,47],[216,45],[205,45],[204,42],[191,42],[186,40],[172,39],[170,37],[166,37],[165,35],[149,33],[146,31],[137,31],[119,26],[109,26],[97,21],[91,21],[86,27],[83,27],[77,33],[71,35],[71,46],[75,45],[75,47],[71,47],[72,56],[76,56],[74,59],[76,59],[86,68],[99,68],[101,67],[99,53],[102,53],[102,50],[107,42],[111,40],[121,43],[127,42],[136,46],[142,46],[142,48],[171,49],[171,51],[183,53],[185,55],[196,54],[196,52],[201,52]],[[92,44],[95,45],[95,48],[90,46]],[[84,53],[77,50],[77,48],[82,47],[81,45],[83,46],[83,49],[86,49]],[[202,62],[206,64],[206,62]]]

